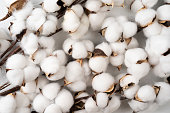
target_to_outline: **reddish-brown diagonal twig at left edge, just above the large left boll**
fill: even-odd
[[[5,64],[6,60],[12,56],[13,54],[18,53],[21,50],[20,46],[17,46],[13,51],[11,51],[6,57],[4,57],[1,62],[0,62],[0,66],[2,66],[3,64]]]

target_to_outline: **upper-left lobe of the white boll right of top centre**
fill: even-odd
[[[112,23],[116,22],[114,17],[108,17],[104,20],[101,29],[107,28],[110,25],[112,25]]]

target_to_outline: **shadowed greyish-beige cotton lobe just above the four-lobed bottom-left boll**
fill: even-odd
[[[49,81],[44,76],[39,76],[37,79],[36,93],[39,93],[40,90],[49,83]]]

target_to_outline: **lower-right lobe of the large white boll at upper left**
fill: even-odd
[[[57,30],[57,25],[51,20],[47,20],[42,26],[42,35],[49,35]]]

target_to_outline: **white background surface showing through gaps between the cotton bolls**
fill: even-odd
[[[35,4],[39,3],[41,0],[32,0]],[[163,0],[159,0],[159,3],[156,7],[158,7],[160,4],[162,4]],[[155,7],[155,8],[156,8]],[[0,18],[2,18],[5,14],[7,13],[7,8],[5,8],[4,5],[4,1],[0,0]],[[110,15],[126,15],[129,17],[130,20],[134,20],[134,14],[129,13],[129,10],[127,9],[123,9],[123,8],[113,8],[112,12]],[[4,28],[7,32],[8,32],[8,26],[9,26],[9,21],[12,18],[9,18],[3,22],[0,22],[0,28]],[[63,41],[66,39],[67,34],[60,32],[57,35],[54,36],[55,40],[56,40],[56,49],[61,49],[62,48],[62,43]],[[104,41],[103,38],[101,38],[100,34],[98,34],[97,32],[89,32],[84,38],[86,39],[90,39],[92,40],[95,45]],[[135,36],[135,38],[137,38],[137,40],[140,43],[140,47],[144,47],[145,46],[145,40],[146,38],[143,36],[143,33],[140,32],[138,33],[138,35]],[[123,69],[121,72],[126,71],[125,69]],[[118,73],[116,68],[113,68],[112,66],[109,66],[108,72],[110,72],[112,75],[116,76]],[[3,75],[0,75],[0,84],[5,83],[6,79]],[[161,79],[155,77],[152,72],[150,72],[150,74],[143,78],[140,81],[140,85],[144,85],[144,84],[153,84],[156,81],[162,81]],[[153,108],[152,112],[144,112],[144,113],[170,113],[170,102],[167,103],[166,105],[163,105],[161,107],[159,107],[158,109]],[[116,111],[115,113],[132,113],[132,110],[130,110],[127,102],[123,101],[122,105],[120,107],[120,109],[118,111]]]

